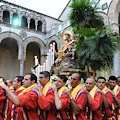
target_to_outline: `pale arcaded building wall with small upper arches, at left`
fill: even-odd
[[[18,14],[20,21],[25,16],[28,26],[21,27],[21,22],[17,26],[12,22],[5,23],[3,11],[10,13],[10,21],[14,13]],[[35,29],[30,28],[31,19],[35,21]],[[42,31],[37,29],[38,21],[42,21]],[[34,56],[38,57],[41,65],[44,64],[50,42],[60,42],[56,35],[48,38],[47,32],[59,23],[60,20],[22,6],[4,0],[0,2],[0,76],[13,80],[16,75],[31,72],[31,67],[35,64]]]

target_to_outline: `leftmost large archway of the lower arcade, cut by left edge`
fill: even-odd
[[[14,36],[14,35],[13,35]],[[13,80],[20,72],[20,43],[8,34],[0,35],[0,73],[6,79]]]

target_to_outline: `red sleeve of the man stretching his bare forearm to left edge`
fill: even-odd
[[[31,90],[24,95],[19,96],[20,106],[27,109],[35,108],[37,106],[38,93]]]

